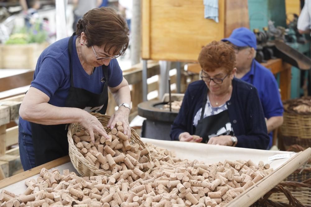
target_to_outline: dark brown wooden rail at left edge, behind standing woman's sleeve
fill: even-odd
[[[30,85],[34,77],[34,70],[26,73],[8,76],[0,79],[0,92],[13,88]]]

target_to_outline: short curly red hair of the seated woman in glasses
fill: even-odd
[[[235,66],[234,49],[222,41],[213,41],[202,48],[198,61],[204,71],[213,72],[225,67],[225,72],[229,74]]]

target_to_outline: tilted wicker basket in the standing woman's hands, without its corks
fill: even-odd
[[[110,128],[107,128],[108,121],[110,116],[102,115],[100,113],[91,113],[94,115],[101,124],[103,124],[107,133],[110,132]],[[72,136],[74,133],[79,132],[83,128],[79,123],[70,124],[68,128],[68,143],[69,143],[69,156],[74,168],[80,173],[82,176],[94,176],[94,175],[106,175],[109,174],[104,173],[103,171],[97,169],[95,166],[91,165],[88,160],[86,160],[83,155],[77,150],[77,147],[73,143]],[[138,143],[142,148],[146,148],[146,145],[141,141],[140,137],[137,135],[134,129],[131,128],[131,144]],[[148,161],[151,162],[150,154],[145,155],[148,158]],[[144,172],[150,173],[151,169],[144,169]]]

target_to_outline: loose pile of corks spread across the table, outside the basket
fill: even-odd
[[[237,160],[205,164],[180,160],[174,152],[146,144],[151,173],[141,173],[142,164],[110,177],[78,177],[64,170],[42,169],[37,180],[26,180],[27,190],[15,195],[3,190],[1,207],[19,206],[225,206],[247,188],[273,171],[260,161]],[[119,155],[118,155],[119,156]]]

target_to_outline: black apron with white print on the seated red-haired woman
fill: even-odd
[[[204,93],[206,94],[206,97],[202,102],[201,117],[197,122],[197,127],[194,134],[203,138],[202,143],[207,143],[211,137],[220,135],[234,136],[228,110],[224,110],[219,114],[207,116],[204,118],[205,105],[207,102],[207,88],[205,88]]]

